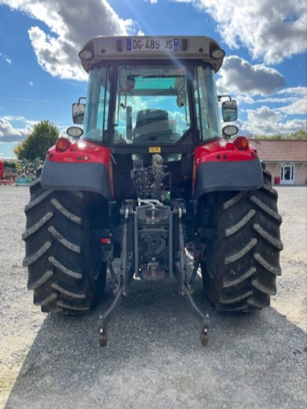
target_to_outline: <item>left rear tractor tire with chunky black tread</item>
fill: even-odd
[[[99,241],[91,238],[94,210],[82,192],[45,190],[40,173],[25,208],[28,288],[42,312],[90,311],[99,302],[106,276]]]

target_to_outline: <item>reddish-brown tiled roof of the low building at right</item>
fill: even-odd
[[[250,139],[264,162],[307,162],[307,140]]]

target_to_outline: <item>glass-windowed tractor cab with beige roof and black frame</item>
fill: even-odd
[[[96,37],[79,53],[89,72],[83,140],[108,146],[115,196],[128,198],[135,160],[159,153],[174,185],[191,191],[197,145],[221,139],[215,73],[225,53],[208,37]],[[233,101],[234,102],[234,101]]]

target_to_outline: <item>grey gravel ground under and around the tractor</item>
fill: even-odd
[[[210,313],[209,344],[173,280],[135,281],[98,346],[96,321],[42,314],[21,267],[28,188],[0,186],[0,408],[302,408],[306,379],[306,201],[280,187],[282,276],[272,306],[255,315]]]

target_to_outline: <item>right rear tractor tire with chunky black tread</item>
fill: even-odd
[[[211,196],[209,224],[217,237],[207,242],[202,277],[207,296],[218,310],[261,310],[276,294],[283,247],[281,216],[271,174],[263,173],[259,190]]]

